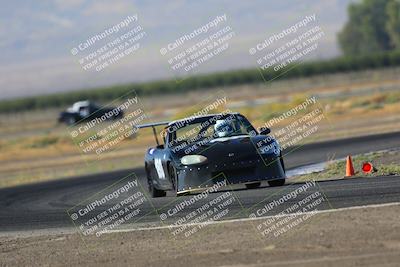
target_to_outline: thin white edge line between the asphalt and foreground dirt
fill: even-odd
[[[391,203],[385,203],[385,204],[371,204],[371,205],[364,205],[364,206],[353,206],[353,207],[347,207],[347,208],[338,208],[338,209],[316,210],[316,211],[311,211],[311,212],[303,212],[303,213],[301,213],[301,215],[306,215],[306,214],[310,214],[310,213],[321,214],[321,213],[332,213],[332,212],[347,211],[347,210],[391,207],[391,206],[398,206],[398,205],[400,205],[400,202],[391,202]],[[106,232],[104,232],[104,234],[126,233],[126,232],[136,232],[136,231],[149,231],[149,230],[162,230],[162,229],[173,229],[173,228],[180,228],[183,225],[198,226],[198,225],[213,225],[213,224],[222,224],[222,223],[258,221],[258,220],[265,220],[265,219],[269,219],[269,218],[281,218],[281,217],[293,216],[294,214],[296,214],[296,213],[289,213],[289,214],[283,214],[283,215],[272,215],[272,216],[261,216],[261,217],[256,217],[256,218],[241,218],[241,219],[232,219],[232,220],[212,221],[212,222],[203,222],[203,223],[200,222],[200,223],[188,223],[188,224],[180,224],[180,225],[154,226],[154,227],[145,227],[145,228],[116,229],[116,230],[106,231]]]

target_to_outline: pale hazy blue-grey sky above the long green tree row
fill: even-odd
[[[349,2],[6,1],[0,9],[1,98],[173,77],[160,48],[222,14],[236,35],[226,53],[198,72],[255,67],[250,47],[314,13],[325,36],[312,56],[333,57],[340,53],[336,33],[346,21]],[[101,72],[83,70],[71,49],[135,14],[146,32],[141,48]]]

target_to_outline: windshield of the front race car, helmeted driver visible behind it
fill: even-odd
[[[217,138],[249,135],[254,127],[242,116],[208,117],[179,127],[171,134],[171,145],[211,141]]]

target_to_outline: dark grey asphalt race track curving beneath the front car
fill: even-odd
[[[392,148],[400,148],[400,132],[314,143],[290,149],[285,152],[287,153],[285,163],[287,169],[292,169],[331,158],[343,158],[348,154]],[[67,215],[68,209],[132,173],[139,177],[140,183],[145,183],[143,169],[132,169],[2,189],[0,190],[0,231],[73,227]],[[304,183],[290,184],[289,182],[288,185],[277,188],[267,185],[253,190],[238,188],[232,192],[236,201],[229,206],[231,211],[229,218],[248,217],[251,212],[262,208],[266,203],[279,199],[282,195],[304,185]],[[308,194],[313,191],[323,193],[326,198],[326,201],[318,206],[319,210],[399,202],[400,177],[324,181],[310,188]],[[227,192],[213,193],[208,196],[207,201]],[[159,214],[176,205],[177,201],[184,201],[191,197],[168,196],[151,199],[141,206],[141,212],[146,216],[143,216],[139,223],[160,223]],[[203,203],[201,200],[196,202],[182,211],[182,214],[193,211]],[[290,204],[293,202],[286,201],[279,208],[265,215],[276,214]],[[109,202],[107,205],[101,208],[107,209],[113,203]]]

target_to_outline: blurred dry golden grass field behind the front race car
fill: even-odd
[[[325,116],[318,123],[318,131],[301,141],[307,143],[399,130],[399,89],[400,68],[392,68],[152,96],[140,101],[152,121],[170,120],[189,115],[222,94],[227,97],[223,109],[241,112],[259,127],[315,96]],[[70,137],[76,127],[57,123],[61,110],[0,115],[0,187],[141,166],[146,148],[154,144],[151,132],[145,130],[101,157],[83,154]],[[294,119],[277,123],[272,131]]]

